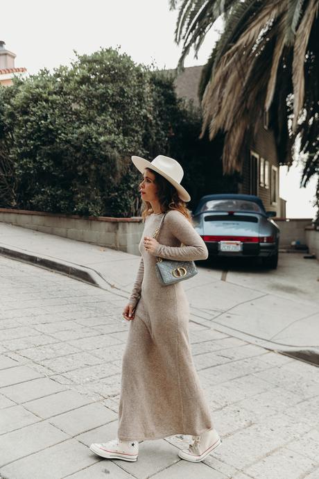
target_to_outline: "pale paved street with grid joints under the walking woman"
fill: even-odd
[[[141,443],[136,463],[99,460],[88,446],[116,435],[128,294],[3,256],[0,277],[3,479],[318,479],[318,369],[225,332],[194,296],[192,351],[222,446],[200,464],[179,459],[182,436]]]

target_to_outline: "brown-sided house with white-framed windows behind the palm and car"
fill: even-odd
[[[175,70],[167,70],[174,74]],[[187,67],[175,78],[178,96],[200,106],[198,85],[202,66]],[[261,198],[267,211],[274,211],[276,217],[286,217],[286,201],[279,198],[279,159],[275,144],[275,135],[268,124],[268,117],[257,126],[255,138],[248,146],[248,154],[241,165],[242,183],[238,192],[256,194]],[[214,193],[214,192],[212,192]]]

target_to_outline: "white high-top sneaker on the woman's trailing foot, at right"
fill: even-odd
[[[193,436],[193,443],[188,449],[181,449],[178,455],[187,461],[200,462],[218,446],[221,446],[221,437],[213,428],[203,432],[200,436]]]

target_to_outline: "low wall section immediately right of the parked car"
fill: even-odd
[[[279,247],[286,248],[292,241],[307,244],[305,228],[311,226],[312,218],[277,218],[273,220],[280,228]]]

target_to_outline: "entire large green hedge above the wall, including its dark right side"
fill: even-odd
[[[223,177],[214,144],[198,140],[200,124],[198,110],[177,98],[173,78],[119,49],[15,80],[0,87],[0,205],[139,215],[132,154],[179,160],[192,203],[221,188],[236,191],[238,178]]]

